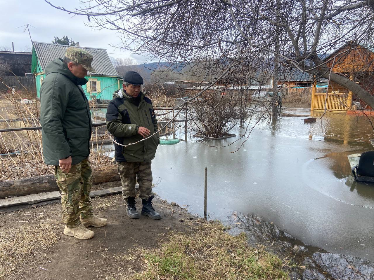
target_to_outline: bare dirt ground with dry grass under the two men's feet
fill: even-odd
[[[90,240],[62,234],[58,203],[0,214],[0,239],[10,242],[6,247],[0,241],[0,248],[7,250],[0,252],[0,279],[98,280],[119,273],[131,275],[143,262],[132,250],[155,248],[171,231],[191,231],[187,220],[197,222],[183,209],[158,198],[154,199],[154,208],[162,214],[158,221],[144,216],[128,218],[120,195],[95,198],[93,206],[95,214],[108,219],[108,225],[91,227],[95,237]],[[141,208],[138,198],[137,208]]]

